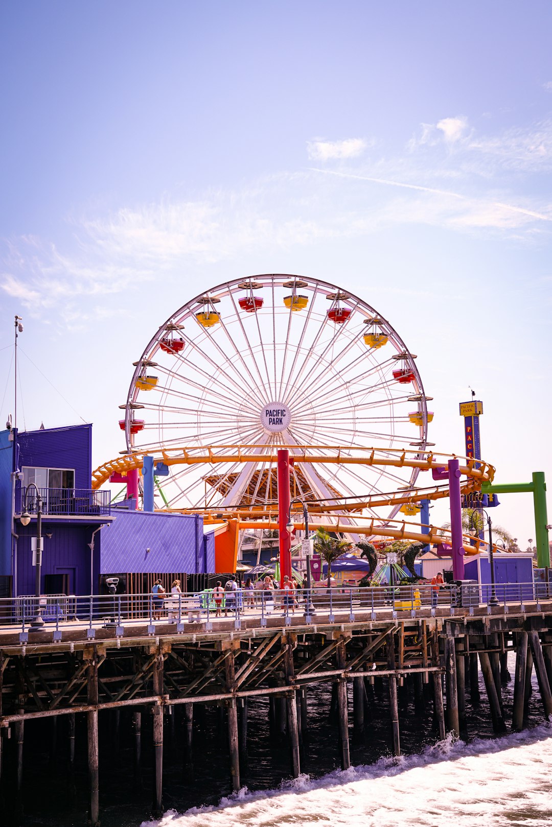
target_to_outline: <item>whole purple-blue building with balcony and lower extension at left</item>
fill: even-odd
[[[89,595],[105,576],[118,590],[149,591],[214,572],[214,535],[203,519],[114,509],[93,490],[92,426],[0,432],[0,597],[33,595],[36,488],[42,500],[41,593]],[[34,484],[34,485],[31,485]],[[22,515],[30,516],[24,526]]]

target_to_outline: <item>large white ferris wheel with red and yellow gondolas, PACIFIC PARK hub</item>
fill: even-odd
[[[218,284],[175,310],[134,362],[119,422],[126,450],[248,446],[258,461],[171,466],[156,507],[259,509],[277,499],[275,447],[423,451],[433,414],[415,358],[386,318],[335,284],[281,274]],[[292,469],[292,495],[411,490],[418,473],[305,462]]]

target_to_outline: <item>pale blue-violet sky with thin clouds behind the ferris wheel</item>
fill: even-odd
[[[473,388],[496,481],[552,480],[551,30],[539,0],[3,2],[2,426],[16,313],[18,425],[93,422],[99,464],[176,308],[293,273],[389,319],[435,450]],[[494,514],[535,537],[530,495]]]

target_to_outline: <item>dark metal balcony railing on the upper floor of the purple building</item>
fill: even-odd
[[[84,517],[111,514],[111,491],[89,488],[39,488],[42,514],[50,517]],[[16,514],[36,514],[34,485],[16,492]]]

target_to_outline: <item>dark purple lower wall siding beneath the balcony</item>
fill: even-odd
[[[90,594],[90,549],[88,543],[94,526],[55,525],[42,523],[44,537],[42,552],[42,591],[47,574],[56,574],[60,568],[74,568],[74,593]],[[36,537],[36,523],[18,525],[17,533],[17,593],[35,594],[35,569],[32,566],[31,537]],[[98,537],[98,534],[96,534]],[[97,548],[97,546],[96,546]],[[95,551],[95,550],[94,550]],[[95,566],[97,568],[98,566]],[[98,589],[98,576],[94,574],[94,591]]]

